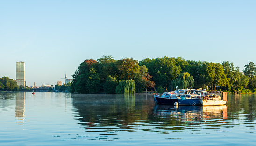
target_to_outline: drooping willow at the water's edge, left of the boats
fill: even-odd
[[[118,86],[116,86],[115,93],[134,94],[135,90],[136,89],[134,80],[120,80]]]

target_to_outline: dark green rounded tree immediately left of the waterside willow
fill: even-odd
[[[107,94],[114,94],[115,93],[115,88],[118,85],[118,81],[116,77],[112,77],[109,75],[106,79],[106,82],[103,84],[103,90]]]

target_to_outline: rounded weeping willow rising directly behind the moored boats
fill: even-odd
[[[191,76],[189,73],[180,73],[179,76],[172,80],[169,86],[168,90],[175,90],[176,86],[178,86],[178,89],[186,89],[189,87],[194,87],[193,82],[193,76]]]

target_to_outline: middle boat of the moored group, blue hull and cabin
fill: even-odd
[[[189,90],[189,93],[184,95],[177,95],[178,104],[182,106],[196,106],[201,105],[200,99],[207,96],[207,91],[202,89]]]

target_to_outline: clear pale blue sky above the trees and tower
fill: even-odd
[[[56,85],[80,63],[182,57],[256,64],[256,0],[0,0],[0,77]]]

